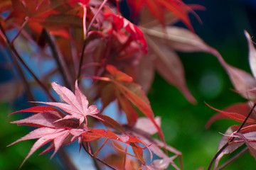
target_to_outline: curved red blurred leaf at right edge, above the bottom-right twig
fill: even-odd
[[[211,106],[209,107],[213,108]],[[231,118],[233,120],[236,120],[242,123],[243,120],[245,120],[245,118],[247,117],[251,108],[252,106],[250,106],[250,103],[235,103],[232,106],[225,108],[223,111],[219,111],[218,109],[213,108],[215,111],[218,111],[219,113],[213,115],[213,117],[210,118],[210,120],[208,120],[208,123],[206,124],[206,128],[209,128],[210,125],[213,122],[215,122],[215,120],[223,119],[223,118]],[[256,123],[256,117],[254,114],[250,116],[250,118],[247,120],[247,123]]]

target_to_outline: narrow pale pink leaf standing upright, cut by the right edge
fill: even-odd
[[[250,38],[249,33],[245,30],[245,37],[247,38],[248,46],[249,46],[249,64],[250,69],[252,70],[252,74],[256,77],[256,50],[252,43],[252,39]]]

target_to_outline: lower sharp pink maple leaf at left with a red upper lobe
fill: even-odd
[[[53,157],[61,146],[68,145],[75,142],[75,140],[81,140],[80,135],[87,131],[84,123],[79,125],[78,120],[62,120],[62,118],[65,117],[65,114],[50,106],[36,106],[33,108],[24,109],[22,111],[16,111],[14,113],[23,112],[33,112],[36,114],[31,115],[28,118],[24,118],[23,120],[16,120],[11,123],[33,126],[37,127],[37,129],[29,132],[28,135],[21,137],[21,139],[16,140],[16,142],[13,142],[8,146],[14,145],[23,140],[38,140],[35,142],[33,147],[31,147],[30,152],[28,152],[28,155],[23,160],[21,166],[24,164],[24,162],[26,162],[26,159],[33,154],[33,152],[36,152],[37,149],[43,145],[46,145],[46,143],[51,142],[51,145],[41,152],[41,154],[45,154],[46,152],[50,152],[51,150],[55,149],[51,156]]]

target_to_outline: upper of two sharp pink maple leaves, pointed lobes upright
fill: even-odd
[[[58,103],[58,102],[36,102],[36,103],[43,103],[50,106],[55,106],[66,113],[68,115],[65,115],[64,118],[61,118],[60,120],[67,120],[67,119],[78,119],[81,123],[85,120],[85,125],[87,126],[87,115],[91,115],[92,117],[98,118],[97,113],[99,113],[99,109],[97,106],[92,105],[88,107],[89,102],[87,101],[87,98],[84,94],[82,94],[82,91],[78,89],[78,81],[75,82],[75,94],[73,94],[72,91],[67,89],[64,86],[60,86],[59,84],[56,84],[55,82],[52,83],[53,89],[56,91],[56,93],[60,96],[60,98],[63,99],[66,103]]]

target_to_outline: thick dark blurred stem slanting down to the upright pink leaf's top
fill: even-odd
[[[48,42],[48,45],[50,46],[50,50],[53,54],[53,58],[57,62],[58,68],[60,70],[60,74],[62,75],[63,81],[65,83],[65,86],[67,86],[68,89],[71,89],[71,85],[68,83],[68,79],[67,79],[68,75],[65,75],[65,69],[64,69],[63,65],[61,64],[61,62],[60,62],[60,57],[58,55],[56,47],[53,44],[53,40],[50,38],[50,34],[48,33],[48,31],[45,28],[43,28],[43,35],[46,38],[46,41]]]

